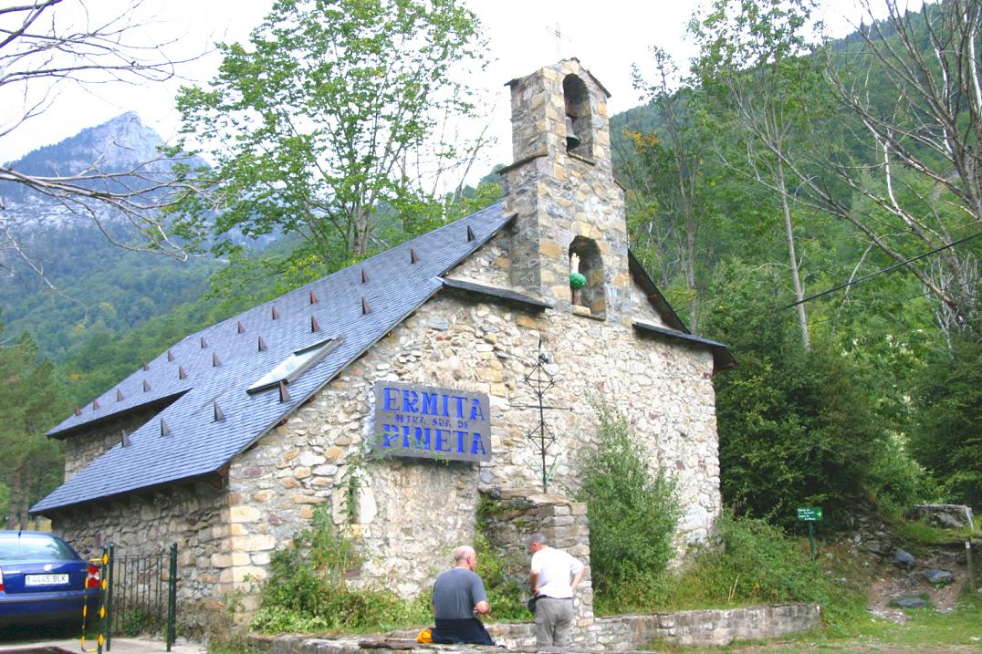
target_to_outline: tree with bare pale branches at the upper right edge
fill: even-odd
[[[982,3],[887,0],[828,79],[852,120],[807,165],[776,153],[811,201],[913,274],[949,333],[977,321],[982,232]],[[832,134],[832,132],[827,132]],[[973,241],[974,240],[974,241]]]

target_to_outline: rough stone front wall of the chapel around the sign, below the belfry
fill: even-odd
[[[355,583],[413,595],[472,542],[478,485],[534,488],[541,473],[525,434],[537,423],[524,385],[539,339],[557,387],[547,400],[560,463],[550,492],[572,495],[576,459],[593,442],[590,401],[627,416],[649,462],[680,481],[680,546],[706,537],[719,514],[712,355],[639,335],[620,323],[529,311],[445,290],[380,340],[310,402],[239,457],[230,471],[232,551],[223,578],[246,588],[268,554],[323,506],[364,557]],[[490,463],[373,460],[373,383],[399,380],[483,392],[492,412]],[[358,478],[348,512],[351,477]],[[246,597],[244,608],[249,606]]]

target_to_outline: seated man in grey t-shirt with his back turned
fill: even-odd
[[[477,554],[462,545],[454,550],[457,564],[441,572],[433,583],[433,642],[493,645],[487,629],[477,619],[491,611],[484,582],[474,572]]]

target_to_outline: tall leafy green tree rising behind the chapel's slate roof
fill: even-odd
[[[220,234],[299,236],[282,269],[323,274],[439,218],[475,151],[453,133],[473,113],[456,80],[480,62],[458,0],[279,0],[248,44],[218,47],[217,77],[178,104],[216,162]]]

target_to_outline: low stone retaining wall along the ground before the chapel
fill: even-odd
[[[649,616],[617,616],[593,620],[575,630],[573,647],[564,651],[628,652],[656,641],[680,645],[717,646],[734,640],[774,638],[818,627],[821,610],[815,604],[779,604],[730,610],[682,611]],[[535,651],[534,626],[530,623],[488,625],[499,645],[510,650]],[[313,638],[301,635],[253,636],[250,644],[269,654],[375,654],[405,652],[501,651],[478,645],[416,644],[408,631],[381,636]],[[388,642],[387,642],[388,640]]]

